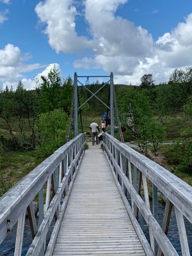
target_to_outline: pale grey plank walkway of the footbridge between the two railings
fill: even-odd
[[[53,255],[145,255],[100,145],[84,154]]]

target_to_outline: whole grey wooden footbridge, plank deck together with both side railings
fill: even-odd
[[[84,150],[85,143],[77,135],[2,196],[0,243],[15,236],[15,256],[190,255],[191,186],[109,134],[102,148]],[[161,224],[159,194],[166,202]],[[172,214],[179,254],[168,238]]]

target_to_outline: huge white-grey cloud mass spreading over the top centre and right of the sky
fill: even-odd
[[[143,74],[152,74],[159,83],[167,81],[174,68],[192,65],[192,13],[155,42],[147,29],[116,15],[118,7],[127,2],[82,1],[86,37],[76,31],[76,1],[45,0],[36,5],[35,11],[56,52],[89,50],[74,61],[75,68],[102,68],[113,71],[116,81],[136,84]]]

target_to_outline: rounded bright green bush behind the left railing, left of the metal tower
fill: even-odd
[[[35,125],[36,149],[52,154],[65,143],[67,127],[67,114],[60,109],[39,115]]]

